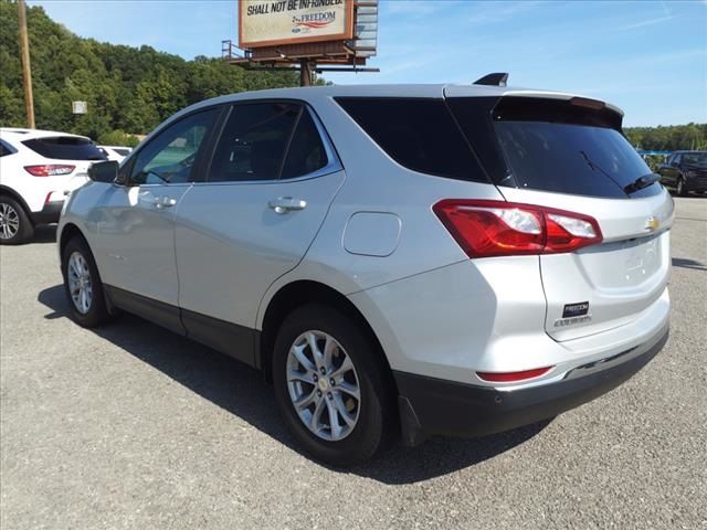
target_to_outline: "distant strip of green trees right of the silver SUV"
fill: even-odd
[[[647,151],[707,149],[707,124],[632,127],[624,132],[635,148]]]

